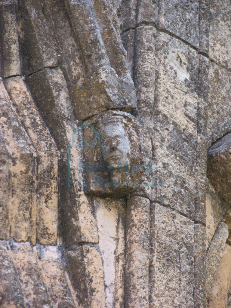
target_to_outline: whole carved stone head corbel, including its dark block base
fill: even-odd
[[[98,133],[93,143],[100,146],[84,149],[84,191],[96,196],[123,197],[135,189],[128,183],[137,183],[143,172],[140,124],[131,114],[114,110],[96,115],[89,122]],[[86,127],[84,139],[93,140],[93,135],[94,131]]]

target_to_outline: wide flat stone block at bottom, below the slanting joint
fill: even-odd
[[[150,204],[149,307],[193,305],[193,221]]]

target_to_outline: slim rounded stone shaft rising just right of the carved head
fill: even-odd
[[[152,26],[140,26],[136,29],[135,59],[134,59],[134,82],[137,94],[137,110],[134,115],[139,119],[142,126],[143,149],[142,157],[146,164],[152,165],[152,136],[153,121],[152,110],[155,95],[155,40],[156,29]],[[131,56],[131,55],[129,55]],[[134,194],[150,198],[151,172],[145,172],[141,182],[147,185],[145,188],[137,189]]]

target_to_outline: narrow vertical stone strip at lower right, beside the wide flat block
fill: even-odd
[[[194,224],[194,307],[206,308],[206,228]]]

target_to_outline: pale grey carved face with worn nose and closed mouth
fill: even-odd
[[[116,169],[130,164],[131,149],[122,122],[105,123],[100,128],[101,143],[105,148],[104,161]]]

